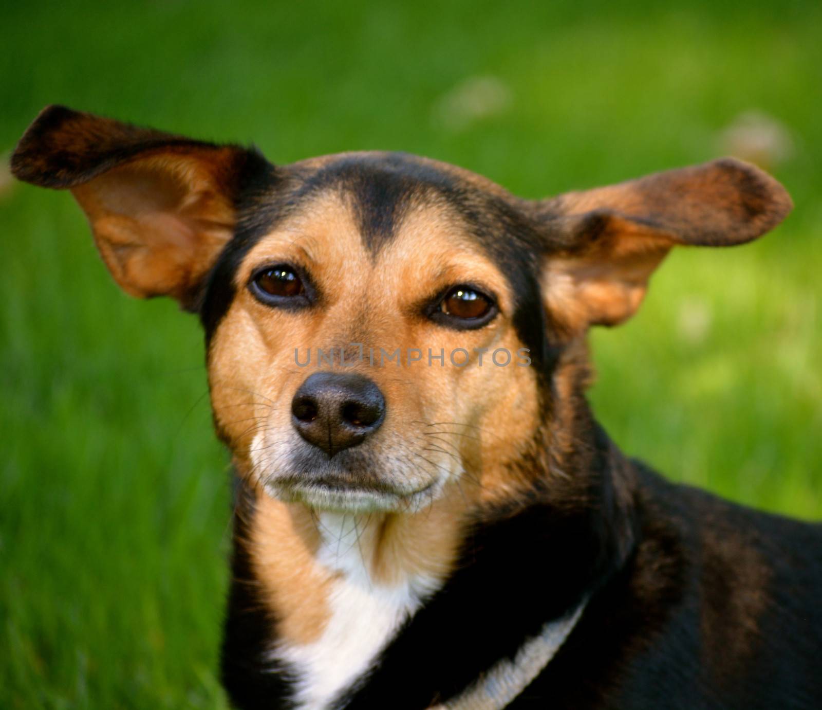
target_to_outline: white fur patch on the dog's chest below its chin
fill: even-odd
[[[360,531],[353,516],[323,514],[317,560],[335,574],[328,595],[329,619],[320,638],[297,645],[278,643],[274,661],[296,672],[298,710],[323,710],[369,670],[404,620],[436,588],[425,575],[391,587],[375,583],[363,561]]]

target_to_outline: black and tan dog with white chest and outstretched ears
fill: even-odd
[[[667,482],[584,397],[586,332],[672,247],[791,210],[760,169],[530,201],[412,155],[272,165],[50,106],[12,170],[72,191],[128,294],[201,319],[236,707],[822,707],[820,526]]]

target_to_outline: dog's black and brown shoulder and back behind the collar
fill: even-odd
[[[819,707],[822,526],[636,468],[635,554],[538,682],[598,678],[567,707]]]

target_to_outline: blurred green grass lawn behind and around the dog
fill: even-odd
[[[593,335],[592,397],[673,479],[818,518],[820,36],[820,3],[785,0],[5,2],[0,152],[48,103],[279,162],[412,151],[526,197],[761,149],[796,211],[672,255]],[[121,295],[66,193],[0,177],[0,229],[0,707],[223,707],[229,475],[196,319]]]

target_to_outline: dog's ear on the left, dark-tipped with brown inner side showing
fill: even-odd
[[[243,186],[273,170],[256,151],[63,106],[44,109],[12,155],[16,178],[71,189],[123,290],[170,295],[187,309],[233,236]]]

